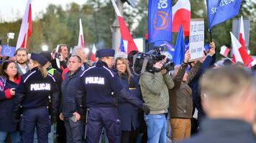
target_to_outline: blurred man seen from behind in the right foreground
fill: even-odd
[[[200,81],[202,104],[209,119],[201,131],[183,143],[256,142],[256,89],[252,73],[244,69],[211,69]]]

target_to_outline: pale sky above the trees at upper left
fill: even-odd
[[[32,0],[32,19],[39,14],[40,11],[45,11],[49,4],[60,4],[65,8],[66,4],[76,2],[84,4],[86,0]],[[3,21],[14,21],[24,15],[27,0],[1,0],[0,4],[0,19]]]

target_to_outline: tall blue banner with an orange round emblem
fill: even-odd
[[[148,36],[149,43],[155,46],[171,42],[172,39],[172,0],[148,1]]]

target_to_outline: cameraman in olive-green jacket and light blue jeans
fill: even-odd
[[[174,86],[166,69],[162,69],[165,59],[153,65],[153,71],[146,70],[140,76],[140,87],[145,105],[150,114],[144,115],[147,124],[147,142],[166,142],[166,118],[169,107],[168,89]],[[161,70],[160,70],[161,69]]]

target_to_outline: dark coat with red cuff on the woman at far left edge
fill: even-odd
[[[6,79],[4,83],[0,80],[1,87],[4,88],[0,91],[0,132],[14,132],[17,129],[17,124],[12,119],[14,110],[14,97],[10,93],[10,89],[17,88],[20,77],[14,79],[14,82]]]

